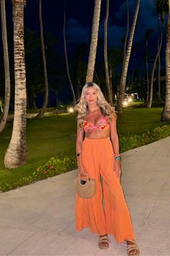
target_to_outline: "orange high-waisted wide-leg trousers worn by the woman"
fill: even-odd
[[[81,155],[87,174],[97,181],[97,192],[91,199],[76,195],[76,230],[89,227],[92,233],[114,235],[117,242],[134,239],[120,179],[113,173],[115,158],[109,137],[94,140],[85,137]]]

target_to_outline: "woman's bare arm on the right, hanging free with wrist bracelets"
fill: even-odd
[[[112,121],[110,122],[110,139],[112,141],[112,147],[114,151],[114,158],[116,155],[120,155],[120,146],[119,146],[119,138],[117,135],[117,125],[116,125],[116,116],[112,116]],[[114,170],[113,172],[120,178],[121,175],[121,164],[120,160],[115,160]]]

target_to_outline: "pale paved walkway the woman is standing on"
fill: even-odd
[[[74,229],[76,171],[0,194],[0,255],[126,255],[125,243]],[[140,255],[170,255],[170,137],[122,154],[122,187]]]

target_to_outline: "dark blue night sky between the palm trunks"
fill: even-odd
[[[133,14],[135,11],[134,0],[129,0],[130,9],[130,27],[132,25]],[[36,30],[40,35],[38,0],[27,0],[24,9],[24,26],[31,30]],[[102,0],[101,17],[99,24],[99,37],[104,38],[104,16],[106,1]],[[157,50],[157,31],[158,21],[156,14],[155,0],[141,0],[138,14],[138,22],[135,29],[133,43],[140,43],[138,48],[138,60],[136,68],[145,69],[143,62],[143,51],[145,49],[144,34],[145,30],[153,29],[153,33],[148,42],[148,50],[151,51],[151,57],[154,58]],[[68,59],[71,66],[71,58],[77,46],[81,43],[89,43],[91,35],[91,25],[94,12],[94,0],[42,0],[42,20],[44,31],[52,33],[56,40],[58,50],[61,56],[63,52],[63,12],[66,6],[66,43],[68,48]],[[12,25],[12,4],[6,0],[7,24]],[[110,0],[109,3],[109,22],[108,22],[108,46],[122,48],[122,37],[126,33],[126,6],[125,0]],[[164,43],[162,55],[164,55],[166,42],[166,33],[164,33]],[[64,57],[63,57],[64,58]],[[164,59],[164,58],[162,58]],[[132,61],[132,59],[131,59]],[[131,65],[131,64],[130,64]],[[130,66],[131,67],[131,66]],[[129,67],[129,69],[130,69]],[[151,69],[152,63],[149,64]],[[162,63],[164,67],[164,63]]]

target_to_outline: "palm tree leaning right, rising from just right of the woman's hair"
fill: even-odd
[[[126,83],[126,78],[128,74],[128,65],[129,65],[129,60],[130,60],[130,53],[131,53],[131,48],[133,45],[133,36],[135,33],[135,25],[138,19],[138,11],[139,11],[139,6],[140,6],[140,0],[137,0],[136,7],[135,7],[135,14],[133,17],[133,25],[130,31],[130,38],[128,41],[128,48],[127,48],[127,53],[125,57],[125,65],[122,67],[122,74],[121,74],[121,79],[120,79],[120,90],[119,90],[119,100],[117,103],[117,111],[119,114],[122,114],[122,101],[124,98],[125,94],[125,83]]]

